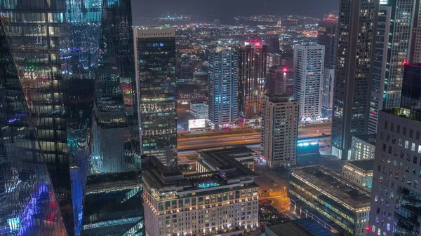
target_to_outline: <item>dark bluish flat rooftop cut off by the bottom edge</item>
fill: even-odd
[[[312,218],[300,218],[295,221],[268,225],[267,228],[277,236],[335,236],[333,232]]]

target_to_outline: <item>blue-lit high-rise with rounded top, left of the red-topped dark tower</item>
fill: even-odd
[[[232,48],[214,48],[209,62],[209,120],[229,124],[238,118],[239,57]]]

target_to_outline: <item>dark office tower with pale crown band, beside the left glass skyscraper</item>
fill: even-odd
[[[142,153],[177,165],[175,29],[134,29]]]

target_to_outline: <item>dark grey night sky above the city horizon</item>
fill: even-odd
[[[338,4],[339,0],[132,0],[134,25],[141,17],[157,17],[167,12],[204,19],[251,14],[321,17],[330,11],[338,11]]]

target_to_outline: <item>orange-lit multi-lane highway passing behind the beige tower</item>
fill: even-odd
[[[330,134],[330,123],[320,125],[311,125],[298,128],[298,137],[316,137],[324,134]],[[260,143],[260,133],[254,132],[245,134],[229,134],[213,137],[199,137],[189,139],[178,139],[178,150],[190,150],[201,148],[213,148],[218,146],[232,146],[240,144],[258,144]]]

